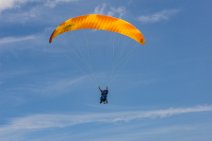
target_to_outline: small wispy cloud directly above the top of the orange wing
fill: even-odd
[[[113,7],[106,3],[103,3],[95,7],[94,13],[123,17],[126,14],[126,8],[122,6]]]

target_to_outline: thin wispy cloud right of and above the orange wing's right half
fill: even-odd
[[[179,10],[163,10],[157,13],[140,16],[138,20],[142,23],[157,23],[170,19],[173,15],[177,14]]]

